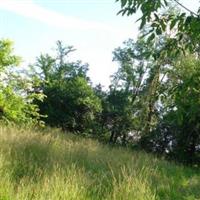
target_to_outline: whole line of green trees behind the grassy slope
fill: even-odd
[[[58,41],[54,55],[19,68],[12,42],[1,40],[1,122],[59,127],[199,165],[200,22],[159,13],[168,6],[161,1],[122,1],[122,14],[141,8],[141,32],[113,51],[119,67],[107,90],[92,85],[88,64],[70,61],[72,46]]]

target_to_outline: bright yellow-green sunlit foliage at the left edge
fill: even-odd
[[[28,92],[32,83],[22,78],[15,68],[20,58],[13,54],[13,43],[9,40],[0,41],[0,119],[14,123],[41,123],[35,99],[42,100],[42,94]]]

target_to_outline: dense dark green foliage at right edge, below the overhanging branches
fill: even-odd
[[[200,163],[199,60],[181,58],[168,70],[157,128],[143,138],[143,146],[185,163]],[[149,146],[150,145],[150,146]]]

